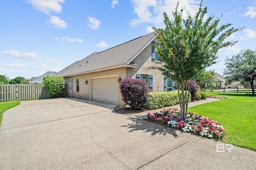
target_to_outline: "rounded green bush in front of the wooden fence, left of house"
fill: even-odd
[[[46,76],[43,79],[43,84],[54,98],[59,97],[65,88],[65,81],[61,76]]]

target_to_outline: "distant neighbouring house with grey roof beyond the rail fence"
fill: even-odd
[[[239,85],[239,82],[232,82],[229,85],[225,85],[226,83],[226,79],[224,76],[220,75],[220,74],[214,74],[214,78],[215,78],[215,82],[213,83],[213,85],[216,88],[244,88],[244,86]]]

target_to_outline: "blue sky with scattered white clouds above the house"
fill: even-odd
[[[94,53],[164,27],[163,12],[171,17],[177,0],[2,0],[0,5],[0,74],[31,78],[60,71]],[[180,0],[195,14],[200,1]],[[223,73],[225,58],[241,49],[256,49],[256,0],[204,0],[208,16],[223,14],[220,24],[245,27],[221,49],[209,69]],[[184,12],[184,14],[186,14]],[[184,15],[186,16],[186,15]]]

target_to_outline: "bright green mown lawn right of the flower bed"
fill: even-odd
[[[228,93],[207,92],[208,95],[228,96]],[[239,147],[256,150],[256,96],[230,93],[233,99],[221,99],[188,108],[218,121],[227,133],[222,141]]]

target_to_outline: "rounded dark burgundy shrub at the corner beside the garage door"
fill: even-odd
[[[144,108],[148,101],[148,84],[145,80],[124,78],[119,89],[125,104],[132,108]]]

